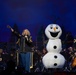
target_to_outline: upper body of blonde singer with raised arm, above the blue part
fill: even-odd
[[[20,46],[20,51],[30,52],[33,47],[33,41],[32,41],[30,31],[28,29],[24,29],[22,32],[22,35],[20,35],[12,28],[11,28],[11,31],[13,34],[15,34],[18,37],[18,41],[16,42],[16,44]]]

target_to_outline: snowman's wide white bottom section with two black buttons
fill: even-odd
[[[64,63],[65,58],[59,53],[48,52],[43,57],[45,68],[62,68]]]

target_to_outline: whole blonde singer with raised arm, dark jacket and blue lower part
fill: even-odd
[[[17,52],[17,66],[21,66],[25,69],[26,72],[30,72],[30,63],[31,63],[31,51],[34,47],[30,31],[24,29],[20,35],[17,31],[7,26],[11,29],[12,33],[18,37],[16,44],[19,45],[20,50]]]

